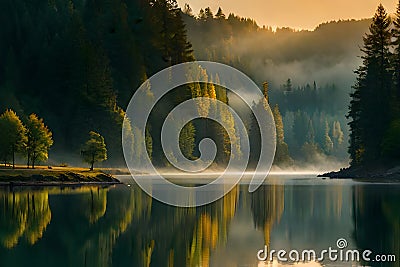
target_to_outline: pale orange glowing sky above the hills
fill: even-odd
[[[389,13],[396,11],[398,0],[177,0],[188,3],[195,14],[210,7],[214,14],[220,6],[224,13],[256,20],[259,26],[314,29],[318,24],[339,19],[370,18],[379,3]]]

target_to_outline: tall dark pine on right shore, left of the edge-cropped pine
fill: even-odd
[[[364,37],[363,65],[351,94],[350,147],[351,164],[365,164],[381,156],[381,145],[390,123],[392,73],[390,66],[390,18],[379,5],[370,33]]]

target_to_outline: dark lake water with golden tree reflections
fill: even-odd
[[[189,209],[133,185],[0,188],[0,266],[281,266],[257,252],[319,252],[339,238],[397,261],[298,266],[399,266],[400,185],[282,176]]]

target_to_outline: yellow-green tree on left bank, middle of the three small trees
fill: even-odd
[[[36,114],[31,114],[26,123],[27,142],[26,153],[29,164],[35,168],[38,161],[46,161],[49,157],[49,149],[53,145],[52,133],[44,125],[43,119],[39,119]]]

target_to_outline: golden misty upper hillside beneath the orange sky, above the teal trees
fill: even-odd
[[[260,28],[230,14],[227,19],[184,16],[197,60],[232,64],[258,83],[279,86],[288,78],[296,85],[335,82],[346,92],[361,60],[359,46],[370,19],[328,22],[314,31]]]

